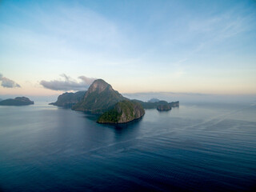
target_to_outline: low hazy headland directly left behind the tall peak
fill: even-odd
[[[86,91],[78,91],[76,93],[64,93],[58,96],[57,102],[51,102],[50,105],[71,107],[74,104],[81,102]]]

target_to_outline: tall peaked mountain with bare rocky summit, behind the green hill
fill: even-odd
[[[72,109],[101,114],[122,100],[127,100],[127,98],[122,97],[122,94],[119,94],[104,80],[97,79],[90,85],[82,101],[74,105]]]

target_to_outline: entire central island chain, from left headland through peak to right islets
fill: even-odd
[[[142,118],[144,109],[170,110],[179,102],[160,101],[152,98],[149,102],[125,98],[103,79],[95,80],[87,91],[64,93],[58,96],[54,106],[68,106],[72,110],[100,114],[98,123],[126,123]]]

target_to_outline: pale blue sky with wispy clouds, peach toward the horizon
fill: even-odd
[[[0,95],[256,94],[255,1],[0,1]]]

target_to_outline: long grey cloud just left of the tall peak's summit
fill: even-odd
[[[82,82],[77,82],[75,79],[70,78],[66,74],[61,75],[64,80],[53,80],[53,81],[45,81],[42,80],[40,84],[49,90],[87,90],[92,82],[94,82],[95,78],[87,78],[85,76],[78,77],[82,80]]]

